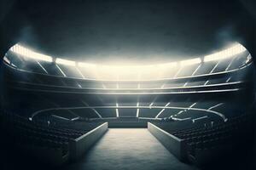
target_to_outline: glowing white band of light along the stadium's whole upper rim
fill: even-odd
[[[25,48],[20,44],[16,44],[9,50],[22,57],[27,57],[36,60],[44,60],[48,62],[54,61],[53,57],[49,55],[38,54],[34,52],[32,49]],[[202,58],[198,57],[194,59],[185,59],[177,62],[166,62],[164,64],[152,63],[150,65],[143,65],[143,63],[138,65],[129,65],[124,62],[116,63],[115,61],[109,61],[109,65],[92,64],[87,62],[76,62],[73,60],[61,58],[56,58],[55,63],[59,65],[68,65],[75,67],[75,69],[79,72],[79,75],[81,75],[81,77],[83,78],[91,78],[102,81],[144,81],[176,78],[178,73],[185,69],[185,66],[187,65],[199,65],[203,62],[227,59],[236,56],[236,54],[241,54],[246,50],[247,49],[244,48],[240,43],[235,43],[231,48],[226,48],[222,51],[219,51],[218,53],[209,54]],[[6,58],[4,59],[7,63],[11,63],[11,60],[8,60]],[[251,56],[247,58],[246,62],[249,62],[250,60]],[[194,73],[192,73],[192,76],[200,68],[200,66],[201,65],[199,65],[197,69],[194,71]],[[61,73],[65,75],[65,72],[61,71]],[[171,77],[170,75],[174,75],[174,77]]]

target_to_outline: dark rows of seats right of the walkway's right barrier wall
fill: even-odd
[[[219,159],[223,153],[236,148],[237,144],[247,140],[252,132],[252,116],[241,115],[228,122],[196,124],[183,129],[173,127],[172,123],[154,123],[185,142],[183,150],[189,161],[201,165],[213,159]],[[241,147],[241,146],[240,146]]]

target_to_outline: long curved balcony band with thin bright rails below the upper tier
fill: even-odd
[[[17,84],[9,84],[10,88],[38,92],[38,93],[54,93],[54,94],[98,94],[98,95],[156,95],[156,94],[206,94],[206,93],[225,93],[236,92],[246,88],[249,82],[225,82],[219,84],[191,86],[191,87],[175,87],[175,88],[67,88],[49,86],[30,82],[18,82]]]

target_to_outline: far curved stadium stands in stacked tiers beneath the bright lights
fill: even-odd
[[[10,89],[9,94],[6,95],[9,96],[11,101],[9,103],[11,104],[20,105],[20,100],[22,100],[21,103],[26,103],[26,111],[23,111],[25,110],[24,107],[17,107],[15,110],[27,113],[30,116],[38,111],[42,111],[38,115],[43,115],[45,113],[44,109],[49,108],[115,107],[117,104],[119,107],[126,105],[136,107],[137,103],[138,106],[149,107],[152,102],[154,103],[152,106],[164,107],[168,102],[172,101],[168,106],[184,107],[184,109],[165,109],[162,111],[163,108],[140,108],[138,111],[137,108],[118,108],[116,110],[115,108],[106,107],[95,108],[95,111],[84,108],[73,110],[73,112],[78,111],[78,115],[84,115],[84,118],[100,117],[96,114],[96,111],[103,118],[116,117],[118,116],[117,111],[119,111],[119,116],[136,117],[138,111],[138,117],[165,118],[166,121],[170,116],[179,119],[200,118],[200,116],[206,116],[207,111],[204,115],[201,112],[195,113],[195,111],[184,110],[186,108],[189,109],[189,106],[195,102],[197,104],[193,106],[194,108],[207,110],[214,105],[218,105],[218,103],[225,102],[221,101],[209,105],[207,104],[211,103],[209,100],[219,101],[231,95],[235,98],[246,94],[244,92],[247,92],[252,84],[249,78],[253,72],[252,60],[247,59],[247,56],[248,52],[241,52],[241,54],[218,60],[201,58],[201,62],[187,63],[185,65],[182,60],[177,61],[176,66],[170,65],[170,63],[150,67],[142,65],[142,71],[139,71],[140,74],[138,74],[137,69],[128,71],[124,69],[123,72],[123,67],[121,67],[122,71],[119,72],[119,75],[118,72],[108,72],[106,68],[103,69],[100,65],[89,63],[80,65],[81,63],[77,61],[71,61],[73,64],[70,65],[68,63],[65,64],[65,62],[57,62],[55,59],[52,62],[47,60],[38,61],[42,65],[38,69],[40,71],[45,69],[44,73],[32,71],[29,69],[30,67],[27,68],[29,71],[18,71],[13,69],[12,62],[17,65],[17,68],[25,70],[26,65],[32,65],[33,63],[36,67],[40,67],[40,65],[35,59],[9,52],[5,57],[9,58],[10,62],[4,62],[6,64],[4,65],[4,68],[6,68],[6,70],[4,69],[4,76],[8,77],[6,79],[8,86],[6,87]],[[247,64],[247,67],[239,70],[241,65],[245,64]],[[143,70],[145,67],[149,69]],[[215,93],[218,93],[218,95],[215,95]],[[23,98],[24,94],[26,94],[26,99]],[[233,94],[235,95],[233,96]],[[207,99],[202,101],[205,96],[207,96]],[[42,102],[42,99],[44,99],[44,102]],[[81,105],[81,99],[86,104]],[[189,102],[187,99],[191,99],[193,102]],[[46,103],[50,105],[45,105]],[[144,105],[145,103],[148,104]],[[13,109],[12,106],[8,106],[9,109]],[[218,108],[212,111],[218,111],[224,115],[230,113],[230,108],[222,107],[223,109],[219,111]],[[158,115],[159,113],[160,115]],[[60,115],[64,116],[64,112]],[[72,114],[70,115],[72,116]],[[68,117],[68,114],[65,117]],[[169,121],[173,121],[173,119]]]

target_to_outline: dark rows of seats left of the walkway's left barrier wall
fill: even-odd
[[[45,122],[32,122],[25,117],[3,112],[1,117],[4,131],[8,133],[11,142],[15,142],[21,149],[25,148],[25,150],[32,150],[33,153],[36,152],[35,156],[45,156],[46,153],[46,157],[50,157],[53,154],[55,155],[54,159],[62,161],[68,160],[71,139],[77,139],[102,124],[102,122],[85,123],[81,129],[72,128],[72,126],[61,127],[59,124],[51,126]],[[60,156],[58,153],[61,153],[61,157],[58,157]]]

